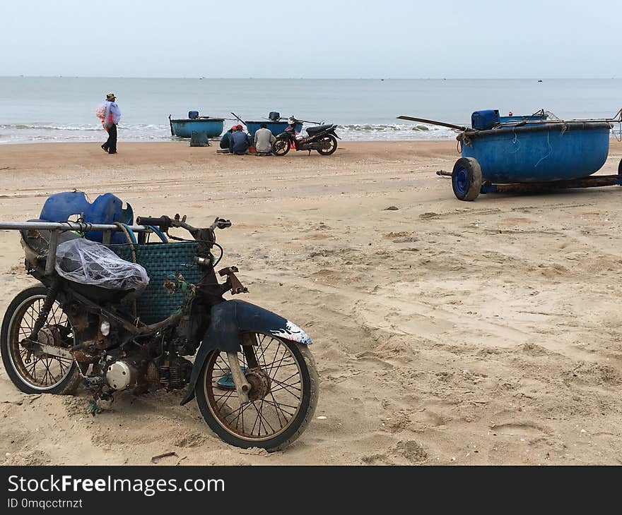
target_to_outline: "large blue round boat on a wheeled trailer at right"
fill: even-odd
[[[476,111],[471,126],[457,137],[462,159],[454,164],[452,187],[460,200],[503,189],[495,185],[586,178],[602,168],[609,153],[606,120],[500,117],[489,110]]]

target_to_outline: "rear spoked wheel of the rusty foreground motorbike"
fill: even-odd
[[[0,332],[4,369],[11,381],[27,394],[71,394],[81,380],[74,360],[26,349],[20,341],[30,337],[42,310],[47,289],[36,286],[22,291],[8,306]],[[37,340],[69,348],[75,344],[74,329],[58,303],[54,303]]]

